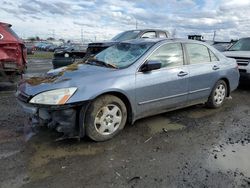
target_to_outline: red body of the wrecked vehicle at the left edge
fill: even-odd
[[[24,42],[11,29],[10,24],[0,22],[0,72],[23,73],[26,58]]]

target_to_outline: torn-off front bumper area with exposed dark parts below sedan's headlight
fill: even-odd
[[[17,96],[18,103],[30,116],[33,127],[47,126],[63,133],[63,137],[81,138],[85,135],[84,121],[86,109],[90,101],[66,105],[33,105]]]

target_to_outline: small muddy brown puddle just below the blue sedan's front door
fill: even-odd
[[[151,118],[146,118],[138,121],[138,124],[142,126],[147,126],[151,134],[156,134],[165,131],[176,131],[184,129],[185,126],[178,123],[171,123],[171,121],[162,116],[156,116]]]

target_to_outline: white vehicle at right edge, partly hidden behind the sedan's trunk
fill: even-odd
[[[242,79],[250,79],[250,37],[241,38],[224,55],[236,59]]]

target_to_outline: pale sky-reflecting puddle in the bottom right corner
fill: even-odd
[[[250,177],[250,144],[227,145],[222,151],[213,152],[209,166],[224,171],[240,171]]]

